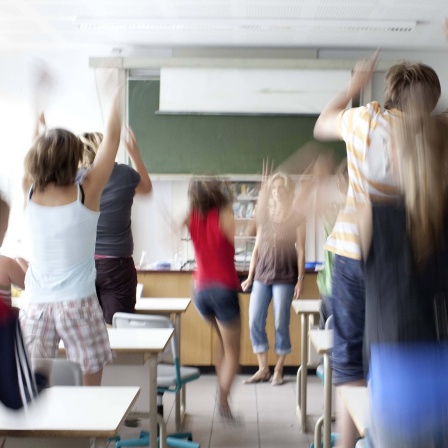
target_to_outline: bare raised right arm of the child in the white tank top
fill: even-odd
[[[84,204],[91,210],[99,210],[101,193],[114,167],[121,135],[121,89],[115,88],[103,141],[95,160],[83,178]]]

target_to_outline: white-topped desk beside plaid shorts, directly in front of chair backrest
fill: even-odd
[[[157,446],[157,356],[165,350],[174,330],[168,328],[108,328],[107,331],[112,351],[148,356],[150,446]],[[63,348],[63,344],[61,346]],[[162,421],[159,423],[163,424]],[[164,433],[163,427],[161,435]],[[161,439],[163,439],[162,436]]]

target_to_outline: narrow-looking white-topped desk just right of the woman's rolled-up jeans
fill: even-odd
[[[300,429],[306,432],[306,389],[308,381],[308,324],[309,316],[319,314],[320,299],[318,300],[293,300],[292,308],[300,315],[301,334],[301,356],[300,367],[296,376],[296,408],[300,415]]]

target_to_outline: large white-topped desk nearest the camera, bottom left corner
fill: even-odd
[[[93,446],[106,447],[138,394],[138,387],[51,387],[27,409],[0,405],[0,436],[7,438],[5,448],[89,447],[90,438]]]

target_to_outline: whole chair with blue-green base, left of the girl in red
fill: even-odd
[[[115,328],[174,328],[171,320],[166,316],[154,316],[131,313],[115,313],[112,318]],[[177,393],[185,384],[197,380],[201,373],[195,367],[182,367],[177,353],[176,334],[171,343],[159,355],[157,366],[157,412],[163,416],[163,394]],[[129,446],[149,445],[148,432],[142,431],[138,439],[119,440],[116,448]],[[169,434],[167,445],[174,448],[200,448],[198,443],[192,441],[191,432]]]

